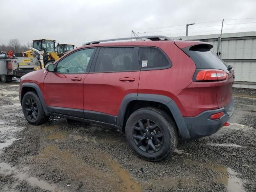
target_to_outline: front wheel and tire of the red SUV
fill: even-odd
[[[44,109],[36,92],[27,92],[23,96],[22,112],[26,120],[32,125],[43,124],[49,119],[44,113]]]

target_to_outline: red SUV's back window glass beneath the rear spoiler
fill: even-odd
[[[229,73],[226,64],[210,49],[212,45],[199,44],[182,50],[194,61],[197,69],[221,69]]]

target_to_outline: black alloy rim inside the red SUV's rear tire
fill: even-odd
[[[161,128],[150,119],[140,119],[136,122],[132,138],[138,148],[146,153],[158,152],[164,143]]]

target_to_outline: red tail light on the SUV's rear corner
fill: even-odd
[[[199,71],[197,81],[221,81],[226,80],[228,74],[223,70],[202,70]]]

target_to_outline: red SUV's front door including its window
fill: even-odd
[[[83,117],[84,79],[95,48],[77,50],[54,65],[44,79],[44,100],[49,112]]]

